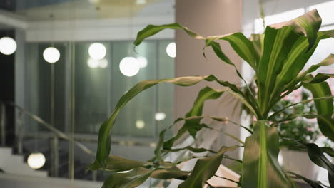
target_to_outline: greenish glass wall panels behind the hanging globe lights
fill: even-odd
[[[47,122],[55,117],[54,126],[69,130],[69,103],[74,102],[74,125],[77,133],[96,134],[104,120],[113,112],[119,98],[141,80],[173,78],[174,63],[166,53],[168,40],[144,41],[133,53],[131,41],[103,42],[106,56],[101,60],[91,58],[90,42],[56,44],[61,54],[53,66],[54,111],[51,110],[51,64],[42,56],[44,43],[29,44],[29,111]],[[70,51],[74,46],[74,51]],[[131,50],[129,50],[131,49]],[[68,58],[74,56],[74,58]],[[124,57],[136,60],[136,76],[124,76],[119,63]],[[74,62],[71,61],[74,59]],[[139,63],[138,63],[139,62]],[[149,62],[149,63],[148,63]],[[71,66],[74,64],[74,70]],[[141,68],[139,68],[141,66]],[[71,79],[74,92],[71,94]],[[118,116],[113,135],[131,137],[156,137],[158,131],[173,121],[173,85],[157,85],[139,94],[128,103]],[[72,96],[73,95],[73,96]],[[51,113],[54,114],[51,115]],[[29,123],[34,131],[35,122]],[[39,130],[42,130],[39,127]]]

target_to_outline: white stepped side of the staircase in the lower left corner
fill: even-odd
[[[46,177],[47,172],[31,169],[26,164],[24,157],[13,155],[9,147],[0,147],[0,169],[2,173],[25,175],[30,177]]]

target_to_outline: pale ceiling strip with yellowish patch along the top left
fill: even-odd
[[[31,0],[25,1],[28,7],[16,11],[28,21],[71,19],[113,19],[129,17],[174,17],[175,0],[146,0],[146,4],[136,4],[136,0],[56,0],[54,4],[29,6]],[[27,5],[28,3],[28,5]],[[22,6],[22,5],[21,5]]]

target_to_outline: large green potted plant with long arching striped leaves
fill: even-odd
[[[254,34],[250,39],[246,38],[242,33],[203,37],[178,23],[147,26],[138,33],[136,41],[134,41],[135,46],[138,46],[145,38],[153,36],[164,29],[180,29],[193,38],[203,40],[205,42],[203,46],[211,47],[221,61],[236,68],[228,56],[223,53],[223,49],[218,43],[221,40],[228,41],[234,51],[255,71],[255,84],[258,91],[253,93],[250,87],[246,87],[246,90],[243,90],[232,83],[218,80],[214,75],[144,80],[134,85],[121,97],[111,117],[101,125],[98,133],[96,161],[91,164],[89,169],[113,172],[106,179],[103,187],[137,187],[151,177],[154,179],[181,179],[183,182],[178,187],[197,188],[203,187],[207,184],[208,179],[215,175],[221,160],[224,157],[228,157],[226,152],[235,150],[238,147],[244,147],[243,159],[232,159],[242,164],[241,179],[238,182],[241,187],[295,187],[293,183],[295,178],[305,180],[312,187],[323,187],[320,182],[307,179],[295,172],[284,171],[280,167],[278,164],[280,137],[277,129],[278,122],[294,120],[297,117],[312,117],[317,118],[322,134],[328,139],[334,140],[333,95],[330,93],[328,83],[325,82],[325,80],[333,78],[333,74],[318,73],[314,77],[311,75],[320,66],[333,64],[334,55],[331,54],[324,61],[311,66],[306,71],[302,71],[305,63],[307,63],[318,46],[318,42],[325,38],[334,37],[334,31],[319,31],[320,26],[321,18],[316,10],[310,11],[296,19],[268,26],[263,34]],[[244,80],[237,68],[236,74],[241,80]],[[171,129],[173,125],[161,131],[153,159],[148,162],[139,162],[112,155],[111,130],[115,125],[118,113],[128,101],[132,100],[138,93],[156,84],[173,83],[175,85],[191,86],[201,81],[216,82],[223,86],[224,89],[203,88],[198,93],[193,108],[189,110],[186,117],[176,120],[176,122],[184,122],[176,135],[168,140],[164,137],[165,132]],[[245,80],[244,82],[248,85]],[[313,95],[312,99],[301,100],[298,103],[276,110],[275,113],[271,113],[273,107],[280,100],[301,86],[310,90]],[[240,125],[248,132],[251,132],[251,136],[247,137],[245,141],[240,140],[239,145],[222,146],[218,151],[196,148],[192,145],[183,148],[173,147],[175,142],[183,135],[189,134],[196,138],[199,131],[213,129],[201,122],[203,118],[210,118],[218,122],[226,122],[228,120],[226,117],[213,117],[204,115],[202,112],[206,100],[220,98],[223,93],[229,93],[240,100],[255,117],[253,130]],[[314,115],[290,114],[286,120],[275,120],[274,118],[285,109],[313,101],[317,110]],[[222,124],[222,126],[225,126],[225,124]],[[328,170],[329,184],[334,187],[334,164],[323,154],[327,152],[333,155],[333,149],[318,147],[314,143],[300,142],[293,139],[288,140],[289,145],[307,150],[312,162]],[[178,168],[178,164],[183,163],[183,160],[177,162],[165,160],[165,156],[169,152],[180,150],[189,150],[193,153],[207,151],[211,152],[212,155],[194,157],[198,160],[193,169],[188,172]],[[128,172],[118,173],[124,171]]]

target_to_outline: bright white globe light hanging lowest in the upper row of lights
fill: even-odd
[[[125,57],[119,63],[119,70],[123,75],[131,77],[136,75],[139,72],[139,63],[136,58],[133,57]]]

